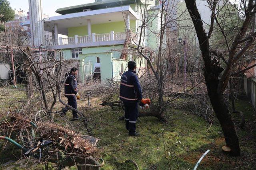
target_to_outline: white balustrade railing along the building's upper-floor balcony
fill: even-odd
[[[71,45],[71,44],[82,44],[82,43],[92,43],[92,42],[102,42],[102,41],[118,41],[118,40],[125,40],[126,39],[126,33],[114,33],[114,31],[111,31],[110,33],[105,34],[95,34],[92,33],[92,35],[85,35],[85,36],[78,36],[75,35],[75,37],[68,37],[68,38],[62,38],[59,39],[48,39],[46,40],[47,46],[53,46],[53,45]]]

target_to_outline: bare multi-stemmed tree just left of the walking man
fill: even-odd
[[[41,108],[48,116],[51,113],[60,113],[61,110],[53,111],[57,100],[59,100],[68,109],[74,110],[80,115],[89,135],[92,135],[84,114],[65,104],[61,99],[61,86],[63,84],[64,73],[68,72],[70,68],[68,61],[65,62],[63,60],[62,53],[60,52],[59,56],[56,56],[57,53],[52,54],[50,51],[44,51],[42,49],[32,53],[29,47],[26,48],[26,51],[21,48],[20,50],[27,59],[25,66],[28,68],[26,69],[30,70],[36,79],[34,87],[40,93]]]

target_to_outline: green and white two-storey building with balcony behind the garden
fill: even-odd
[[[154,16],[145,30],[144,45],[157,49],[160,29],[157,4],[158,0],[95,0],[94,3],[59,8],[56,12],[60,16],[43,19],[44,31],[52,32],[54,37],[45,40],[44,45],[47,49],[62,50],[64,59],[78,60],[80,80],[88,76],[99,76],[102,82],[119,79],[127,62],[135,58],[132,55],[121,58],[121,49],[128,34],[134,38],[131,43],[136,45],[144,8],[148,17]],[[30,21],[23,25],[30,26]],[[66,37],[58,36],[60,34]],[[146,67],[145,59],[142,59],[142,67]]]

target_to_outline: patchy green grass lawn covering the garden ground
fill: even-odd
[[[123,111],[117,107],[111,109],[99,106],[97,102],[93,101],[93,106],[86,109],[85,102],[79,101],[78,108],[86,114],[94,136],[99,139],[97,146],[105,160],[103,170],[135,169],[134,165],[126,163],[126,160],[134,160],[142,170],[166,170],[169,168],[168,160],[172,169],[191,170],[208,149],[210,152],[204,157],[198,169],[256,169],[256,116],[249,101],[236,102],[236,109],[243,111],[245,116],[244,129],[238,127],[240,118],[234,114],[242,154],[240,157],[232,157],[222,152],[221,147],[225,140],[216,118],[206,131],[210,124],[202,117],[185,110],[168,109],[167,123],[162,123],[155,117],[140,117],[136,124],[140,136],[129,137],[124,121],[118,121]],[[72,117],[71,111],[68,111],[67,116]],[[58,115],[54,119],[58,121]],[[74,126],[82,133],[86,133],[84,125],[79,121],[74,122]],[[163,135],[166,145],[163,142]],[[4,152],[0,153],[0,163],[4,163],[2,160],[6,162],[12,155]],[[10,152],[12,150],[8,150],[8,153]],[[31,166],[30,169],[44,168],[42,165],[28,165]],[[27,169],[20,166],[15,168]],[[5,167],[0,166],[0,169]]]

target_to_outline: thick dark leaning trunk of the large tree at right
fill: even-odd
[[[203,21],[196,6],[196,0],[185,0],[185,2],[196,30],[202,58],[205,64],[204,78],[208,96],[224,133],[226,146],[231,149],[230,154],[233,156],[240,156],[240,147],[234,121],[228,110],[223,93],[218,90],[219,76],[223,71],[223,68],[210,52],[209,37],[205,33]]]

